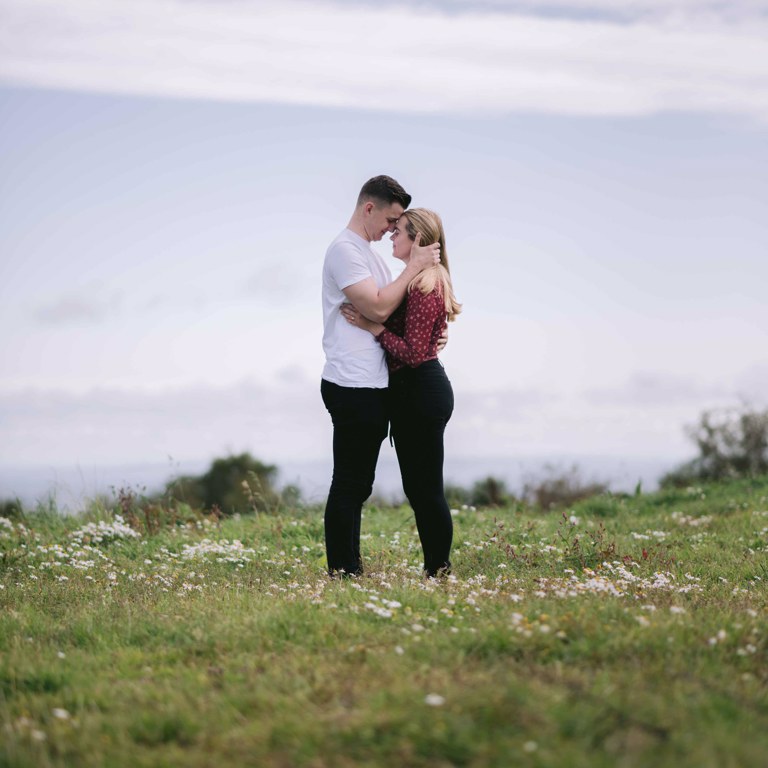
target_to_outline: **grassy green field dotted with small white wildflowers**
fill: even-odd
[[[768,765],[768,478],[563,513],[0,519],[0,765]]]

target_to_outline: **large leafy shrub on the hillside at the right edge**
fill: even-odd
[[[768,474],[768,409],[705,411],[698,424],[686,427],[686,434],[699,455],[664,475],[663,488]]]

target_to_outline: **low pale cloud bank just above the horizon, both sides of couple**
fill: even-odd
[[[683,426],[735,395],[645,397],[629,390],[558,394],[456,388],[446,432],[455,457],[660,456],[687,452]],[[673,387],[674,389],[674,387]],[[667,393],[668,394],[668,393]],[[0,394],[0,463],[191,461],[250,451],[268,462],[328,457],[331,423],[319,381],[297,367],[275,384],[140,391],[18,390]],[[660,448],[660,446],[663,446]]]

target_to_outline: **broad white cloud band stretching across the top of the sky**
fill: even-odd
[[[438,10],[451,5],[0,0],[0,81],[405,113],[768,120],[759,4],[646,0],[621,23],[601,20],[604,0]]]

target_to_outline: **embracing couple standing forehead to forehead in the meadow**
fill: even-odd
[[[440,217],[408,206],[389,176],[360,190],[323,265],[321,393],[333,422],[333,479],[325,508],[328,571],[358,576],[360,520],[391,425],[403,490],[416,516],[424,570],[450,572],[453,522],[443,491],[443,433],[453,390],[437,359],[453,295]],[[371,243],[392,233],[405,264],[396,280]]]

